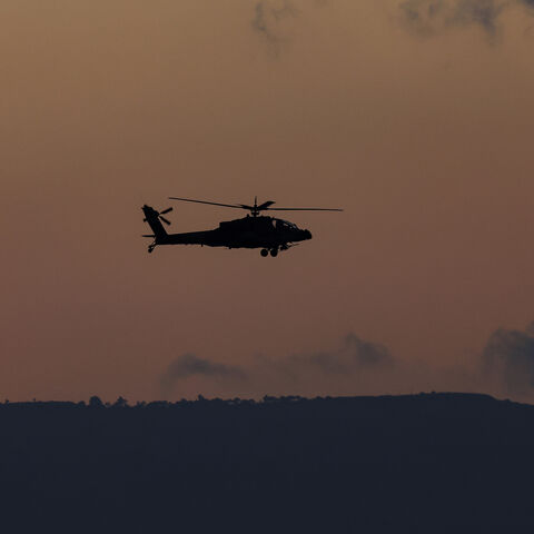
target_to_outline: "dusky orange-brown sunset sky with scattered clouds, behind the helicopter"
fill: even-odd
[[[3,0],[0,399],[534,400],[533,8]],[[236,217],[169,196],[344,211],[148,255]]]

